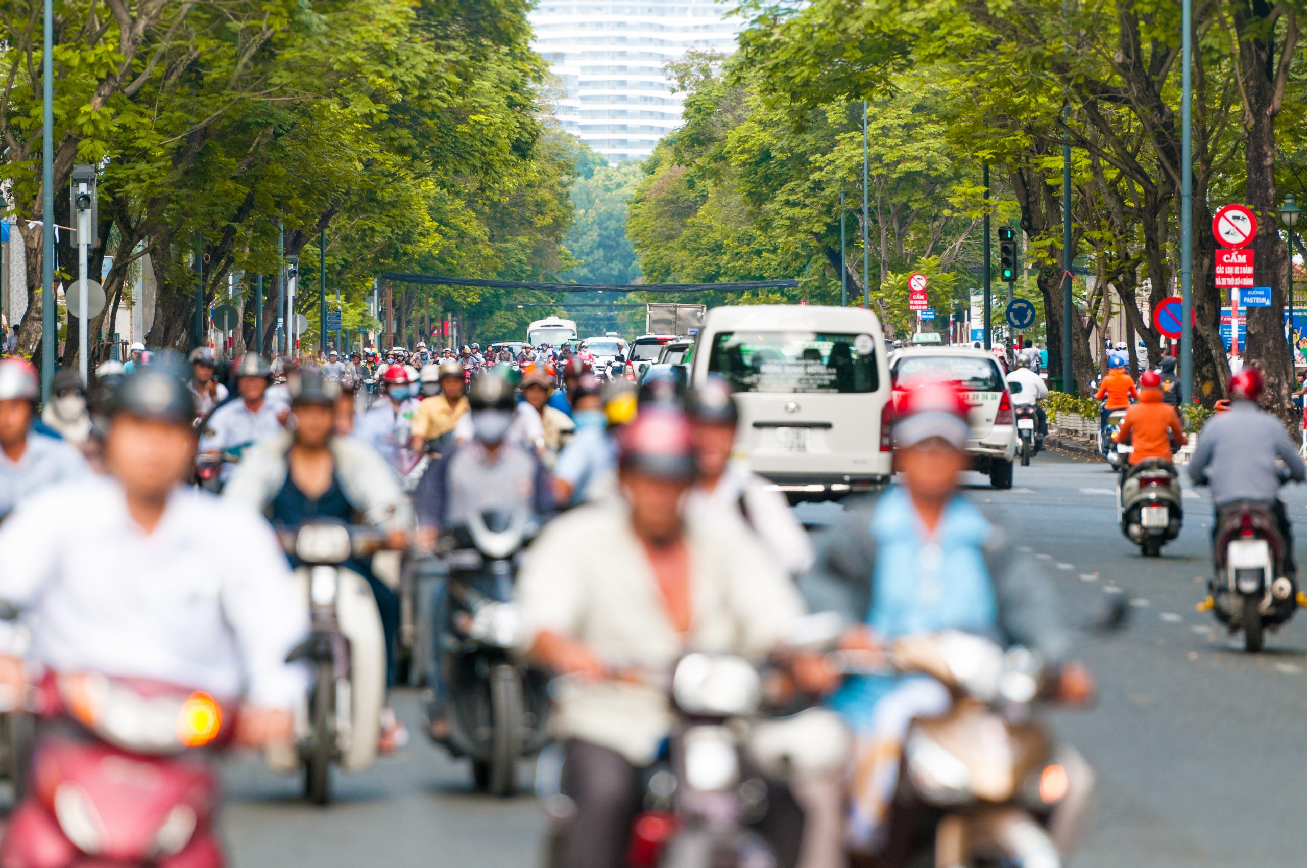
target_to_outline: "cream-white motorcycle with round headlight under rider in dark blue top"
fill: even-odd
[[[295,710],[295,745],[269,749],[276,771],[303,770],[305,799],[331,801],[331,769],[361,771],[376,758],[386,705],[386,633],[367,580],[349,569],[354,558],[387,549],[370,528],[315,522],[284,532],[282,544],[301,566],[295,580],[308,599],[308,638],[291,654],[312,671]]]

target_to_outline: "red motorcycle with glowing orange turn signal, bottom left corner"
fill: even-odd
[[[27,796],[0,841],[4,868],[220,868],[218,775],[235,706],[146,678],[51,675]]]

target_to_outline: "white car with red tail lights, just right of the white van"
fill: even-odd
[[[1017,426],[1008,380],[997,359],[972,346],[904,346],[890,359],[890,379],[898,384],[914,376],[957,380],[971,404],[971,465],[987,473],[996,489],[1012,488],[1012,461],[1017,455]]]

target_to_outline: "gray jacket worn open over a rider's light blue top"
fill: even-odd
[[[877,502],[870,498],[851,503],[847,520],[818,540],[817,561],[799,580],[810,612],[836,612],[848,624],[867,621],[878,546],[870,528]],[[1048,576],[1033,559],[1022,557],[999,528],[993,528],[983,554],[997,601],[1000,638],[1026,646],[1046,660],[1065,660],[1072,633]]]

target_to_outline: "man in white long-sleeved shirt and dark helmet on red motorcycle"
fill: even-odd
[[[267,522],[183,485],[196,448],[183,375],[127,376],[111,404],[110,473],[42,492],[0,527],[0,599],[33,616],[30,656],[51,671],[243,692],[238,737],[285,743],[305,693],[286,656],[308,633],[307,603]],[[14,638],[0,629],[0,684],[20,688]]]

